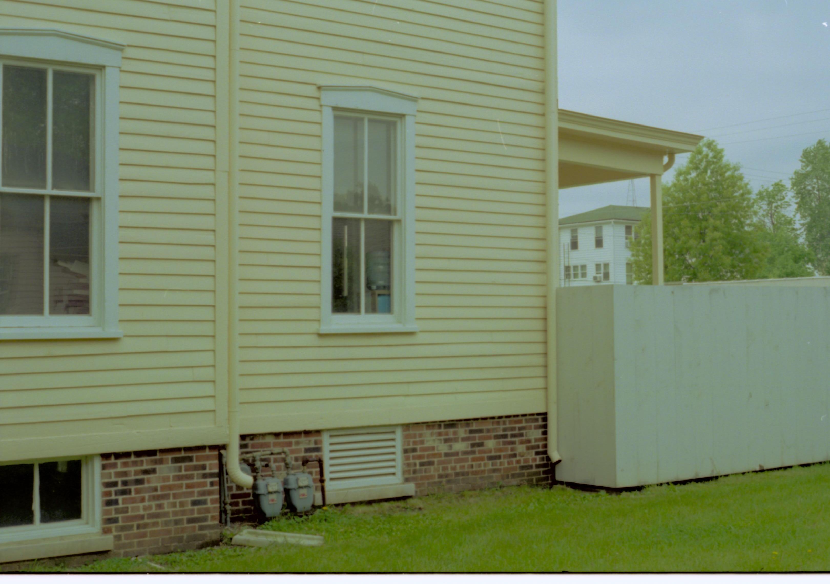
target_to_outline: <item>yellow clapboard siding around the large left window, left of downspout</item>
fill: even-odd
[[[127,45],[125,338],[0,343],[0,460],[204,444],[216,434],[214,8],[212,0],[0,2],[2,27]]]

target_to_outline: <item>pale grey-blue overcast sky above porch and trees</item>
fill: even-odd
[[[558,4],[565,110],[715,138],[755,189],[786,180],[803,148],[830,139],[830,0]],[[647,207],[648,180],[635,187]],[[624,205],[627,189],[563,190],[560,217]]]

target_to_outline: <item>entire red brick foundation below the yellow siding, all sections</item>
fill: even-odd
[[[416,494],[549,483],[544,414],[403,426],[403,479]],[[292,468],[322,455],[320,431],[242,436],[240,456],[285,448]],[[101,455],[102,523],[115,538],[114,555],[138,556],[199,548],[218,539],[221,446]],[[281,456],[265,457],[282,473]],[[315,490],[320,471],[309,465]],[[251,491],[229,482],[232,521],[260,523]]]

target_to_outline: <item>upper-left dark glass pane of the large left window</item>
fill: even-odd
[[[46,69],[2,68],[2,185],[46,188]]]

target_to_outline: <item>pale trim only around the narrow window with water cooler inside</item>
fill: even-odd
[[[322,257],[320,269],[320,334],[332,333],[414,333],[415,324],[415,114],[417,97],[367,86],[320,85],[323,134],[322,181]],[[402,153],[403,192],[400,197],[402,212],[399,306],[393,315],[364,314],[336,315],[331,313],[331,222],[334,212],[334,110],[349,110],[362,114],[391,114],[400,116],[403,129]],[[397,259],[397,258],[396,258]],[[392,318],[390,318],[392,316]]]

